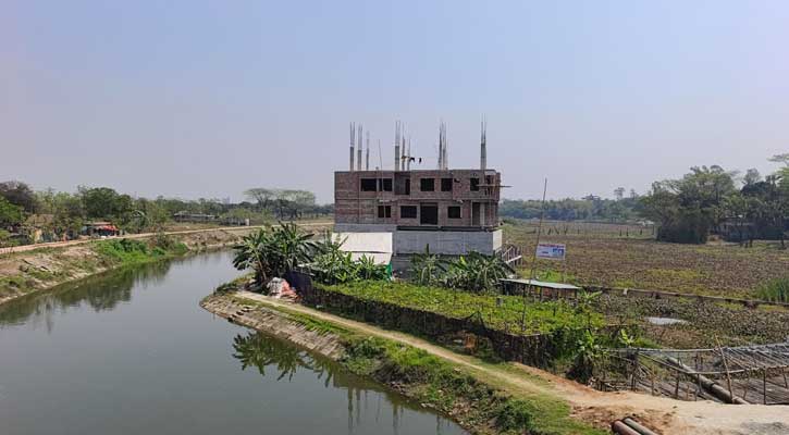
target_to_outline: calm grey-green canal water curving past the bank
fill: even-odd
[[[198,307],[226,252],[0,306],[0,434],[461,434],[332,361]]]

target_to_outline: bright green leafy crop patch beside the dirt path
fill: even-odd
[[[316,288],[336,291],[361,300],[391,303],[428,311],[452,319],[477,316],[493,330],[513,334],[544,334],[557,330],[600,327],[603,318],[593,312],[579,315],[582,307],[558,301],[531,302],[520,296],[471,294],[443,287],[392,282],[354,282],[342,285],[313,284]],[[526,319],[521,331],[521,320]]]

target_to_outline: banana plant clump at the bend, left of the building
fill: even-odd
[[[233,265],[241,271],[251,270],[255,282],[262,286],[272,277],[311,263],[319,245],[312,240],[312,234],[303,232],[296,224],[282,223],[245,236],[233,249]]]

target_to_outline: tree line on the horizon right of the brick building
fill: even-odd
[[[693,166],[678,179],[652,184],[645,195],[618,187],[613,199],[503,200],[502,216],[556,221],[653,221],[662,241],[703,244],[712,234],[752,244],[754,239],[780,240],[789,231],[789,153],[768,159],[779,167],[762,176],[718,165]]]

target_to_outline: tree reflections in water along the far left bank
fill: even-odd
[[[161,261],[99,274],[56,287],[41,294],[22,297],[0,306],[0,328],[26,322],[45,323],[47,331],[54,326],[57,310],[81,307],[83,301],[94,310],[114,309],[119,302],[132,300],[135,285],[147,287],[161,283],[170,270],[170,262]]]

